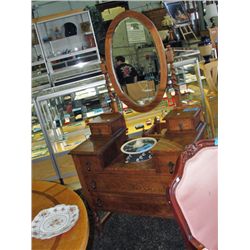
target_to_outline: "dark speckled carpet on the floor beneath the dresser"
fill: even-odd
[[[86,201],[77,190],[85,205]],[[87,205],[86,205],[87,207]],[[88,209],[90,238],[87,250],[184,250],[185,243],[174,219],[161,219],[128,214],[112,214],[98,235]]]

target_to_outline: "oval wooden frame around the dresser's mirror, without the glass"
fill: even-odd
[[[112,59],[112,40],[113,35],[115,32],[116,27],[119,25],[121,21],[123,21],[125,18],[134,18],[141,22],[145,28],[148,29],[149,33],[152,36],[152,39],[155,43],[159,64],[160,64],[160,83],[158,85],[158,91],[154,97],[154,99],[146,104],[146,105],[139,105],[136,102],[134,102],[132,99],[130,99],[121,89],[120,84],[118,82],[118,79],[116,77],[113,59]],[[128,10],[125,12],[122,12],[121,14],[117,15],[109,25],[108,31],[106,33],[106,39],[105,39],[105,60],[106,65],[108,69],[108,74],[110,77],[110,81],[112,83],[112,86],[115,89],[116,94],[120,98],[122,102],[124,102],[128,108],[131,108],[137,112],[147,112],[149,110],[152,110],[155,108],[162,100],[163,95],[165,93],[165,89],[167,86],[167,76],[168,76],[168,70],[167,70],[167,61],[166,61],[166,55],[165,55],[165,49],[161,40],[161,37],[153,24],[153,22],[148,19],[145,15]]]

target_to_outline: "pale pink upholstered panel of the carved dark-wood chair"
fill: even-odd
[[[176,188],[176,199],[192,235],[207,249],[218,249],[218,148],[206,147],[190,158]]]

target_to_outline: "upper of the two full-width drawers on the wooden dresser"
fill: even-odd
[[[139,176],[99,174],[85,176],[90,192],[165,195],[169,175]]]

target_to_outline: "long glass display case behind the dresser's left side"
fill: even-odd
[[[110,102],[104,75],[80,80],[74,87],[65,84],[37,93],[34,106],[38,115],[32,119],[33,161],[49,156],[57,169],[54,179],[76,177],[67,154],[90,136],[88,122],[93,117],[111,112]]]

